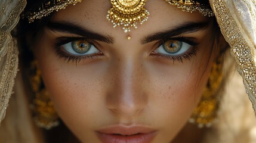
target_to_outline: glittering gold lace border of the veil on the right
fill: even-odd
[[[221,28],[224,38],[230,45],[230,54],[236,60],[236,67],[239,74],[243,77],[246,93],[252,102],[254,113],[256,111],[256,69],[254,54],[249,44],[243,38],[239,26],[230,13],[229,7],[224,0],[213,2],[215,15]],[[255,113],[256,114],[256,113]]]

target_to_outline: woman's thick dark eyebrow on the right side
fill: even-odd
[[[178,36],[185,33],[194,33],[199,32],[206,27],[209,26],[210,21],[207,22],[183,22],[181,24],[178,24],[178,26],[172,27],[171,29],[165,30],[164,32],[158,32],[149,36],[146,36],[146,38],[143,38],[141,40],[142,44],[153,42],[153,41],[159,41],[162,39],[168,39],[173,36]]]

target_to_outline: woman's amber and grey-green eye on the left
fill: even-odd
[[[94,45],[87,41],[72,41],[62,45],[63,49],[72,55],[89,55],[98,51]]]

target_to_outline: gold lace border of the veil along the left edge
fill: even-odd
[[[11,4],[10,2],[13,1],[9,0],[8,4]],[[25,5],[25,0],[18,0],[8,18],[0,27],[0,61],[2,60],[0,62],[0,122],[4,119],[18,69],[17,43],[15,40],[11,40],[10,31],[16,26]]]

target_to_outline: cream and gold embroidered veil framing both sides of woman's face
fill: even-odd
[[[210,3],[221,32],[230,45],[230,54],[236,60],[237,70],[243,78],[246,92],[255,111],[256,1],[210,0]],[[25,0],[0,2],[0,122],[4,119],[18,71],[17,45],[15,39],[11,37],[11,30],[16,26],[25,5]]]

